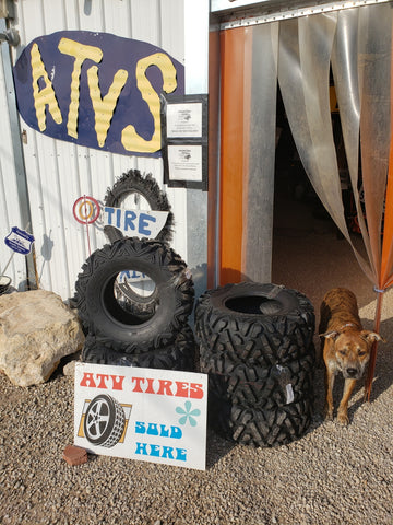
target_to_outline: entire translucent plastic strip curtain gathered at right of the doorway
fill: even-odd
[[[386,175],[391,140],[390,4],[364,7],[281,23],[278,81],[305,170],[326,210],[352,244],[364,272],[378,291],[376,331],[382,292],[392,284],[393,174]],[[332,60],[343,136],[358,219],[368,260],[355,249],[344,217],[329,101]],[[358,187],[359,136],[365,213]],[[383,249],[383,202],[386,192]],[[366,392],[370,396],[377,346],[371,352]]]

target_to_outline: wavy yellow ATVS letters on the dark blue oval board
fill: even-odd
[[[78,121],[80,110],[80,91],[82,66],[86,60],[99,63],[103,60],[103,50],[96,46],[81,44],[70,38],[61,38],[58,49],[63,55],[73,57],[73,68],[70,83],[70,105],[68,108],[67,133],[78,139]],[[31,65],[33,77],[33,96],[38,128],[44,131],[47,128],[46,109],[50,113],[56,124],[62,124],[62,115],[59,108],[58,100],[52,86],[52,79],[49,78],[43,58],[36,43],[31,49]],[[141,153],[155,153],[162,147],[162,126],[160,126],[160,100],[159,94],[154,90],[146,77],[146,71],[151,66],[156,66],[163,75],[163,91],[172,93],[177,88],[177,71],[168,55],[155,52],[141,58],[135,68],[136,86],[142,98],[148,106],[153,117],[153,133],[150,140],[141,137],[134,126],[126,126],[121,131],[121,143],[127,151]],[[129,78],[129,72],[119,69],[107,91],[103,96],[99,88],[98,67],[91,66],[87,69],[88,93],[95,117],[95,132],[99,148],[105,145],[111,120],[120,97]]]

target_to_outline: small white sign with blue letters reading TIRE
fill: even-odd
[[[165,226],[168,213],[168,211],[123,210],[106,206],[103,209],[103,223],[121,230],[128,237],[155,238]]]

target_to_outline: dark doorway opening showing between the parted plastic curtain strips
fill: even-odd
[[[353,242],[362,250],[361,236],[355,231],[356,210],[337,117],[338,114],[332,113],[345,217]],[[324,293],[334,287],[352,288],[369,303],[374,299],[372,287],[307,176],[285,116],[279,88],[276,141],[272,282],[305,293],[314,305],[317,317]]]

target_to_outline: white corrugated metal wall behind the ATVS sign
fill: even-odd
[[[13,50],[13,61],[34,38],[64,30],[112,33],[148,42],[184,63],[184,0],[19,0],[13,24],[21,45]],[[2,46],[8,46],[2,44]],[[0,237],[11,226],[21,224],[11,128],[0,66]],[[35,236],[36,268],[39,287],[59,293],[63,300],[73,295],[76,276],[88,256],[85,226],[72,214],[76,198],[90,195],[103,200],[108,187],[130,168],[152,173],[163,187],[160,159],[111,154],[48,138],[34,131],[21,119],[21,131]],[[172,247],[187,260],[187,191],[166,189],[175,214]],[[90,226],[91,249],[105,244],[99,226]],[[11,252],[0,247],[0,268]],[[24,256],[15,255],[10,275],[17,285],[23,277]]]

